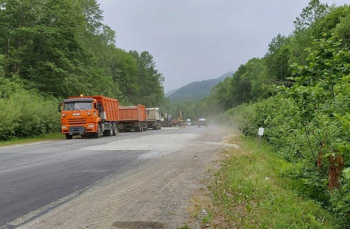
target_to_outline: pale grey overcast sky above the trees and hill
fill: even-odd
[[[293,30],[308,0],[98,0],[116,46],[147,50],[165,92],[235,71]],[[322,0],[342,5],[349,0]]]

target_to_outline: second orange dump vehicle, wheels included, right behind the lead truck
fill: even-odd
[[[119,106],[118,128],[120,132],[129,132],[130,130],[137,132],[146,131],[147,122],[144,105]]]

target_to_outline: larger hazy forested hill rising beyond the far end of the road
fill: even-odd
[[[215,86],[218,82],[224,80],[227,76],[232,76],[232,74],[233,71],[230,71],[216,79],[191,82],[173,92],[169,96],[170,102],[178,103],[187,100],[200,100],[201,98],[209,95],[210,90],[213,86]]]

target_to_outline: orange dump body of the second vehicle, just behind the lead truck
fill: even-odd
[[[141,121],[146,120],[146,109],[144,105],[119,106],[119,121]]]

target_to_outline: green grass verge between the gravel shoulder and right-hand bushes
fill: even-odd
[[[242,136],[230,138],[229,143],[240,148],[223,151],[227,159],[221,162],[208,190],[201,193],[202,197],[192,198],[194,207],[189,211],[203,226],[214,229],[341,228],[336,218],[316,202],[298,196],[300,182],[283,176],[283,171],[291,165],[269,146],[261,144],[257,149],[255,139]],[[200,216],[200,209],[208,214]]]

